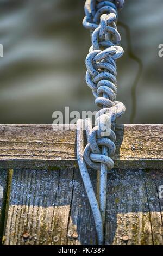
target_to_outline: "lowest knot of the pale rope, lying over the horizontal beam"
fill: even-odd
[[[86,120],[86,131],[88,144],[84,149],[84,160],[90,168],[99,170],[101,163],[106,164],[108,169],[114,167],[114,161],[111,157],[115,154],[115,120],[125,111],[123,103],[116,101],[115,107],[103,108],[96,114],[95,127],[92,129],[91,121]],[[102,154],[102,147],[106,147],[108,156]]]

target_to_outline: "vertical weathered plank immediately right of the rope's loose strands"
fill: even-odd
[[[110,172],[106,209],[106,245],[153,244],[144,172],[143,170]]]

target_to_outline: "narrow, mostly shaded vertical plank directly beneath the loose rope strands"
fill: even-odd
[[[97,173],[95,170],[89,170],[89,174],[93,188],[96,192]],[[67,245],[96,245],[95,221],[78,170],[75,170],[74,172],[71,218],[72,221],[70,221],[68,225]]]

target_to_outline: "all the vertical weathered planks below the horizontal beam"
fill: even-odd
[[[108,174],[106,245],[163,245],[161,185],[161,170]],[[95,245],[95,234],[78,169],[14,171],[4,245]]]

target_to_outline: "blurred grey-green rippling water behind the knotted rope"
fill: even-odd
[[[0,123],[52,123],[54,111],[94,111],[85,83],[91,41],[84,0],[0,0]],[[118,29],[120,123],[162,123],[163,1],[126,0]]]

